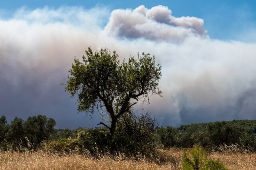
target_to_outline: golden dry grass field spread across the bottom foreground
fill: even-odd
[[[156,164],[141,160],[102,157],[93,159],[78,154],[57,156],[45,152],[0,152],[0,170],[179,170],[181,150],[165,151],[168,163]],[[229,170],[256,170],[256,153],[212,152],[210,158],[218,159]]]

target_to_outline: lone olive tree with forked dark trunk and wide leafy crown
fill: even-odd
[[[82,61],[74,59],[66,85],[72,97],[78,96],[78,111],[93,114],[95,108],[108,115],[112,136],[118,119],[140,100],[149,103],[149,94],[161,95],[161,66],[149,53],[119,61],[118,54],[106,48],[93,52],[89,47]]]

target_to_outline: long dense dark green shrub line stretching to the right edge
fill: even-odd
[[[157,139],[164,147],[191,148],[200,145],[214,150],[222,145],[250,148],[256,151],[256,120],[234,120],[196,123],[180,127],[160,127]]]

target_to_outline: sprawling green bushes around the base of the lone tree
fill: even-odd
[[[80,152],[91,156],[145,156],[152,158],[156,154],[155,119],[146,114],[126,114],[118,121],[116,132],[108,137],[108,128],[78,128],[68,138],[59,138],[48,142],[44,148],[51,152]]]

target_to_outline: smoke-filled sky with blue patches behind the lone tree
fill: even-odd
[[[90,46],[156,57],[163,97],[134,110],[162,126],[256,119],[255,11],[253,0],[0,1],[0,115],[97,127],[60,85]]]

